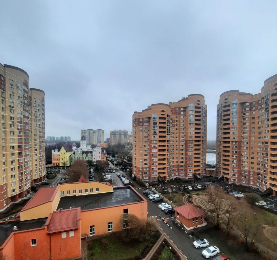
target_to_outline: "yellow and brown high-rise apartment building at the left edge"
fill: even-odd
[[[45,176],[44,92],[21,68],[0,64],[0,211]]]

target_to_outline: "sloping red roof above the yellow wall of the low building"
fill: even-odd
[[[46,202],[49,202],[55,192],[57,187],[50,187],[50,188],[40,188],[33,198],[31,198],[28,203],[21,209],[21,211],[25,211],[27,209],[31,209],[38,205],[42,205]]]

